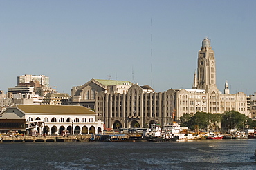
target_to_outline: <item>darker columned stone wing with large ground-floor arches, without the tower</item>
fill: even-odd
[[[149,127],[149,124],[172,123],[174,112],[170,107],[170,92],[156,93],[148,85],[132,85],[126,93],[99,92],[95,112],[107,128]]]

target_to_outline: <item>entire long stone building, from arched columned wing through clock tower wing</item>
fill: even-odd
[[[203,40],[199,50],[192,89],[169,89],[163,93],[149,89],[132,85],[126,94],[113,91],[98,93],[95,100],[98,118],[106,127],[115,129],[148,127],[151,123],[163,125],[179,120],[183,114],[193,115],[197,111],[214,114],[235,110],[248,116],[244,92],[230,94],[228,81],[223,94],[217,89],[215,57],[209,39]]]

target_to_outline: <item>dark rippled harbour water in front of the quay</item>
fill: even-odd
[[[256,169],[256,140],[1,143],[0,169]]]

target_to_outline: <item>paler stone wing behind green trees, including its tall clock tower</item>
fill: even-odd
[[[198,53],[197,72],[194,73],[192,89],[170,89],[175,96],[175,107],[172,108],[175,111],[175,120],[183,114],[193,115],[197,111],[217,114],[234,110],[249,116],[248,98],[244,92],[230,94],[228,81],[224,85],[224,93],[217,89],[215,63],[210,39],[205,38]]]

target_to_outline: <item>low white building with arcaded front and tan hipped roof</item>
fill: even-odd
[[[13,105],[0,115],[0,131],[26,134],[95,134],[103,130],[91,109],[82,106]]]

